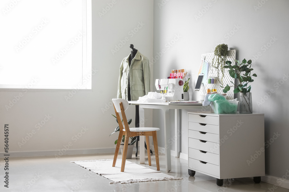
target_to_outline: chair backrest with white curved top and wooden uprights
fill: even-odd
[[[113,102],[113,105],[114,105],[114,111],[115,111],[115,115],[116,115],[116,118],[117,118],[117,121],[118,121],[119,128],[123,128],[123,125],[121,123],[121,118],[120,118],[120,116],[118,114],[118,113],[121,113],[121,115],[123,117],[123,124],[125,126],[125,131],[126,132],[130,132],[129,131],[129,126],[128,126],[128,123],[127,123],[127,118],[126,118],[126,115],[125,115],[125,110],[127,110],[128,106],[129,106],[128,101],[125,100],[125,99],[113,98],[112,102]]]

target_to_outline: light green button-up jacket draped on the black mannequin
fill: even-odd
[[[149,60],[139,51],[131,60],[129,66],[129,56],[125,57],[119,68],[117,98],[128,100],[128,75],[130,84],[131,100],[138,100],[139,97],[147,95],[150,92],[151,71],[149,69]]]

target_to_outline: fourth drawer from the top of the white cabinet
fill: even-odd
[[[189,138],[189,147],[193,149],[199,149],[201,151],[219,154],[219,145],[210,141],[202,142],[199,139]]]

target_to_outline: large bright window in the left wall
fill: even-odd
[[[91,0],[1,0],[0,88],[91,89]]]

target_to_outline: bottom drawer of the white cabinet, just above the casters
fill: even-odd
[[[189,158],[189,168],[220,177],[219,166]]]

